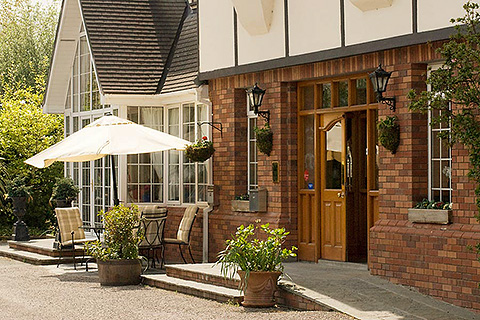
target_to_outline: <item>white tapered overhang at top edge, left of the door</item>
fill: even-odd
[[[232,0],[238,21],[252,35],[270,31],[273,18],[274,0]]]

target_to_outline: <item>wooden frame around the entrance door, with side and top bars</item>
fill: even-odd
[[[355,104],[356,101],[356,86],[355,83],[359,79],[366,79],[366,103],[365,104]],[[348,81],[348,106],[339,107],[338,101],[339,96],[337,93],[338,84],[340,82]],[[325,107],[322,105],[323,92],[322,85],[330,85],[331,90],[331,105]],[[313,94],[313,104],[314,107],[304,108],[306,98],[303,96],[302,90],[306,87],[314,88]],[[305,189],[304,181],[304,133],[302,126],[302,118],[305,116],[313,115],[314,116],[314,126],[315,126],[315,137],[314,137],[314,155],[315,155],[315,168],[320,168],[320,157],[322,155],[322,143],[321,137],[322,132],[320,130],[320,121],[322,120],[322,115],[329,113],[348,113],[356,111],[366,111],[367,113],[367,237],[370,237],[370,228],[374,225],[375,221],[378,219],[378,189],[374,189],[377,186],[376,178],[376,154],[377,154],[377,134],[376,134],[376,118],[378,110],[378,102],[376,100],[375,94],[373,92],[372,84],[368,79],[366,73],[350,75],[346,77],[335,77],[330,79],[318,79],[310,80],[305,82],[297,83],[297,123],[298,123],[298,258],[300,260],[306,261],[318,261],[321,257],[321,170],[315,169],[315,178],[314,178],[314,190]],[[370,150],[370,151],[369,151]],[[375,150],[375,152],[372,152]],[[306,201],[311,203],[310,208],[306,208],[305,203],[302,199],[305,198],[305,195],[309,195],[310,200]],[[308,209],[308,210],[307,210]],[[310,211],[310,212],[306,212]],[[304,221],[308,220],[308,221]],[[311,225],[311,229],[308,230],[307,224]],[[302,233],[308,232],[308,237],[305,237]],[[305,238],[309,238],[309,242],[305,242]],[[369,240],[367,239],[367,246]],[[306,249],[305,249],[306,248]],[[368,247],[367,247],[368,250]]]

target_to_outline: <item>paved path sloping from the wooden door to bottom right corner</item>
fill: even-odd
[[[372,276],[364,264],[295,262],[286,263],[285,272],[296,285],[308,288],[307,296],[358,319],[480,319],[480,314]]]

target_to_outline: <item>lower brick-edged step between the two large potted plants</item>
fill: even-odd
[[[243,301],[243,295],[240,290],[174,278],[166,274],[143,275],[142,278],[143,284],[160,289],[176,291],[218,302],[240,303]]]

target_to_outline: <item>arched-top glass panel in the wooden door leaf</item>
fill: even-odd
[[[342,123],[337,122],[327,131],[325,170],[327,189],[342,188],[342,148]]]

